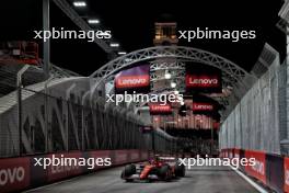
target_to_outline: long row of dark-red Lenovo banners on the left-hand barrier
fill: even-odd
[[[148,151],[130,149],[71,151],[23,158],[2,158],[0,159],[0,192],[19,192],[101,168],[138,162],[148,159]],[[65,163],[66,161],[68,164]],[[76,166],[73,164],[74,161]]]

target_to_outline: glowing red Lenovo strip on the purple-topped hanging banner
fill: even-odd
[[[115,79],[116,88],[136,88],[136,87],[147,87],[149,84],[150,84],[149,75],[124,76],[124,77],[117,77]]]

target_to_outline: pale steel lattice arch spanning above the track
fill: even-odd
[[[94,71],[90,76],[91,79],[96,79],[96,81],[91,86],[91,100],[96,88],[109,76],[130,65],[158,58],[176,58],[216,67],[222,71],[224,80],[227,82],[231,82],[232,87],[238,88],[240,86],[243,86],[245,90],[251,86],[248,86],[247,82],[243,79],[252,78],[253,80],[255,80],[255,77],[253,75],[248,73],[236,64],[217,54],[193,47],[155,46],[135,50],[127,55],[120,56]],[[244,88],[242,88],[242,90],[244,90]]]

